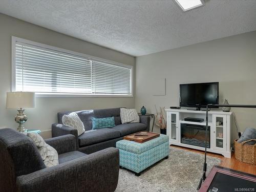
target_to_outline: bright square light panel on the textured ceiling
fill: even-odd
[[[204,6],[204,0],[174,0],[183,12]]]

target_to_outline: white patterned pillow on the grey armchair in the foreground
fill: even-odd
[[[27,136],[34,141],[46,167],[59,164],[58,152],[55,150],[55,148],[48,145],[45,140],[36,133],[28,133]]]

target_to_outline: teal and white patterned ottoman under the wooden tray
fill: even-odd
[[[120,166],[135,172],[140,172],[169,155],[169,137],[160,134],[160,137],[144,143],[129,140],[116,142],[120,152]]]

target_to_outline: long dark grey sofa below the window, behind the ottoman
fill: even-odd
[[[70,114],[71,112],[72,111],[59,112],[57,114],[58,123],[52,124],[52,137],[72,134],[76,137],[78,151],[86,154],[91,154],[108,147],[115,147],[116,142],[122,140],[123,136],[130,135],[139,131],[150,130],[149,116],[140,115],[139,123],[122,124],[120,118],[120,108],[84,110],[77,111],[76,113],[83,122],[86,132],[80,136],[77,136],[76,129],[62,124],[62,116],[65,114]],[[102,128],[96,131],[91,131],[92,117],[114,117],[115,126],[111,128]]]

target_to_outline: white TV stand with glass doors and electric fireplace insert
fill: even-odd
[[[206,112],[185,109],[166,109],[165,111],[167,114],[167,135],[169,136],[169,143],[204,151]],[[210,126],[210,131],[208,130],[210,134],[208,144],[210,147],[207,148],[207,152],[221,154],[227,158],[231,157],[231,115],[232,112],[213,110],[208,112],[208,126]],[[204,121],[184,121],[186,117],[202,118]],[[218,121],[221,121],[222,124],[218,125]],[[194,128],[193,125],[204,125],[204,129],[200,129],[200,126]],[[196,145],[201,146],[196,146],[195,142]]]

